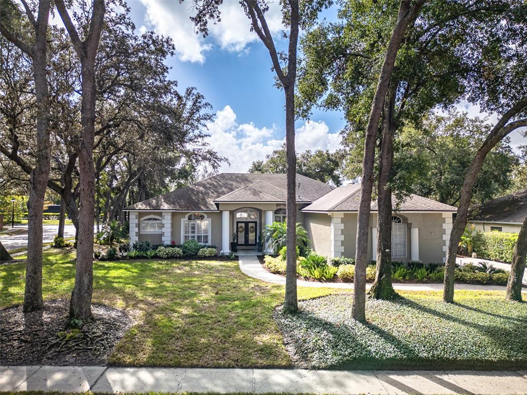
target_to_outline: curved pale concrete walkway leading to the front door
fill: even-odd
[[[278,274],[272,274],[262,268],[258,256],[246,255],[240,256],[240,270],[248,276],[274,283],[285,285],[286,278]],[[315,287],[315,288],[343,288],[353,289],[353,283],[346,282],[318,282],[318,281],[304,281],[297,280],[298,287]],[[370,284],[366,284],[369,288]],[[442,291],[443,284],[393,284],[394,289],[403,291]],[[467,291],[505,291],[506,287],[503,285],[472,285],[472,284],[456,284],[456,289]]]

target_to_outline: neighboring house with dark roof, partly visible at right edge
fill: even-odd
[[[480,232],[520,233],[527,218],[527,190],[511,193],[471,208],[470,223]]]

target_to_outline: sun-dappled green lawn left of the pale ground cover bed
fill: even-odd
[[[69,298],[74,255],[46,250],[45,299]],[[282,287],[241,273],[237,261],[95,261],[93,301],[126,310],[136,324],[109,363],[137,366],[290,366],[272,311]],[[300,298],[329,289],[300,288]],[[0,308],[22,303],[24,265],[0,268]]]

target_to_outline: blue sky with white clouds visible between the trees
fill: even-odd
[[[206,39],[194,34],[189,0],[183,4],[178,0],[128,0],[128,4],[139,32],[148,29],[172,38],[177,55],[168,60],[171,77],[181,89],[196,86],[212,105],[216,115],[208,125],[208,143],[230,161],[221,171],[245,172],[252,161],[282,145],[284,95],[274,86],[269,53],[250,32],[249,19],[238,0],[224,0],[222,22],[210,26]],[[321,17],[335,19],[336,10],[325,11]],[[278,0],[271,2],[267,20],[275,43],[285,47],[287,41],[280,38]],[[470,104],[458,107],[472,116],[482,115]],[[490,121],[494,120],[491,115]],[[337,150],[344,124],[339,112],[315,110],[310,121],[296,123],[297,150]],[[513,145],[524,141],[519,133],[512,136]]]

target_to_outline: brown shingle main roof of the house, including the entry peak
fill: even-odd
[[[125,210],[215,211],[214,202],[285,202],[286,188],[286,174],[221,173]],[[297,201],[312,202],[329,191],[329,185],[297,174]]]

